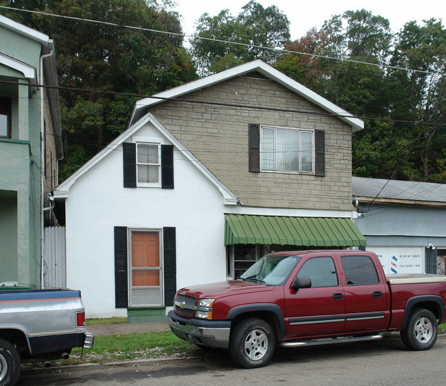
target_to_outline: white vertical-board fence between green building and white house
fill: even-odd
[[[45,228],[43,245],[43,288],[66,288],[65,228]]]

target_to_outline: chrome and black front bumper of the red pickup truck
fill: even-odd
[[[187,319],[169,311],[169,327],[180,339],[208,347],[228,348],[231,321]]]

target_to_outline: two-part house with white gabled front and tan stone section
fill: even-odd
[[[124,133],[54,191],[67,286],[89,317],[124,316],[273,249],[364,246],[351,203],[362,128],[261,60],[137,101]]]

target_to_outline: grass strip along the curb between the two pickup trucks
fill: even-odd
[[[60,365],[106,363],[137,359],[156,359],[165,356],[191,356],[201,350],[192,343],[178,339],[171,331],[142,332],[95,337],[93,350],[73,348],[70,358]]]

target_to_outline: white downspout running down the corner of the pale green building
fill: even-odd
[[[39,81],[40,84],[43,84],[43,59],[49,58],[49,56],[53,56],[53,49],[49,50],[49,54],[40,55],[40,69],[39,69]],[[45,241],[45,227],[43,221],[43,214],[46,209],[44,201],[44,193],[45,193],[45,117],[43,115],[43,87],[40,87],[40,184],[41,184],[41,194],[40,194],[40,288],[43,288],[43,276],[44,276],[44,262],[43,262],[43,253],[44,253],[44,241]]]

